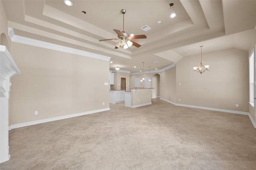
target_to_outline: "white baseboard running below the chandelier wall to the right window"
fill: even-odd
[[[248,115],[250,117],[250,120],[252,121],[252,124],[253,124],[254,128],[256,128],[256,123],[253,120],[253,118],[252,118],[252,116],[250,115],[249,112],[228,110],[228,109],[218,109],[218,108],[212,108],[212,107],[193,106],[193,105],[186,105],[186,104],[177,104],[177,103],[171,102],[169,100],[166,100],[164,98],[160,98],[160,99],[164,100],[168,103],[174,104],[176,106],[184,106],[184,107],[192,107],[192,108],[198,108],[198,109],[206,109],[206,110],[222,111],[222,112],[228,112],[228,113],[236,113],[236,114],[240,114],[240,115]]]

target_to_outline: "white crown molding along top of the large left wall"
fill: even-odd
[[[62,45],[56,45],[56,44],[53,44],[53,43],[48,43],[48,42],[39,41],[39,40],[36,40],[36,39],[31,39],[31,38],[15,35],[13,29],[10,28],[10,27],[8,27],[8,35],[9,35],[11,41],[16,42],[16,43],[22,43],[22,44],[32,45],[32,46],[36,46],[36,47],[42,47],[42,48],[46,48],[46,49],[62,51],[64,53],[82,55],[82,56],[85,56],[85,57],[91,57],[91,58],[94,58],[94,59],[100,59],[100,60],[105,60],[105,61],[110,61],[110,59],[111,59],[111,57],[107,57],[107,56],[104,56],[104,55],[90,53],[90,52],[87,52],[87,51],[82,51],[82,50],[78,50],[78,49],[74,49],[74,48],[70,48],[70,47],[65,47],[65,46],[62,46]]]

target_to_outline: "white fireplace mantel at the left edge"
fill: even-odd
[[[12,56],[4,45],[0,45],[0,163],[10,159],[9,154],[9,92],[10,78],[20,74]]]

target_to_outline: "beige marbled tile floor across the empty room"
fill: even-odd
[[[248,115],[174,106],[130,108],[12,129],[1,170],[255,170]]]

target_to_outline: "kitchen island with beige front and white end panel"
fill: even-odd
[[[152,90],[154,88],[134,88],[125,92],[125,106],[140,107],[152,104]]]

